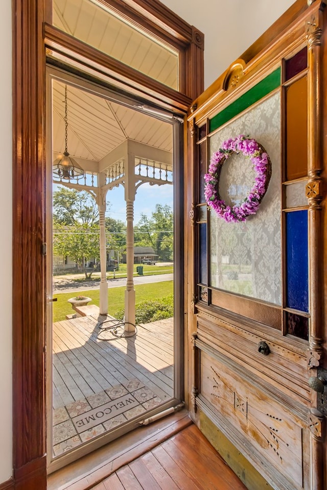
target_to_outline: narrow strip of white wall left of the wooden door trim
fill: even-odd
[[[12,109],[11,109],[11,0],[2,0],[0,16],[0,192],[2,257],[0,274],[0,482],[12,475]]]

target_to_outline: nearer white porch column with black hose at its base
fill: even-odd
[[[125,171],[126,201],[126,266],[127,283],[125,291],[125,331],[135,331],[135,289],[134,289],[134,200],[135,200],[135,155],[127,154]]]

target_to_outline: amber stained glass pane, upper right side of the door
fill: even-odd
[[[308,174],[308,80],[302,77],[286,89],[286,179]]]

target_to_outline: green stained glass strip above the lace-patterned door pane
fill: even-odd
[[[210,121],[210,132],[219,128],[225,124],[225,122],[237,116],[255,102],[260,101],[260,99],[262,99],[265,95],[268,95],[268,93],[272,92],[272,90],[275,88],[279,87],[279,85],[281,85],[280,67],[268,75],[268,77],[266,77],[264,80],[254,85],[254,87],[250,88],[250,90],[241,95],[239,99],[232,102],[224,110],[219,112],[219,114],[214,116]]]

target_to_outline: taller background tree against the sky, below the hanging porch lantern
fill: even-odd
[[[85,190],[60,187],[53,193],[54,222],[62,225],[94,225],[99,222],[98,206]]]

